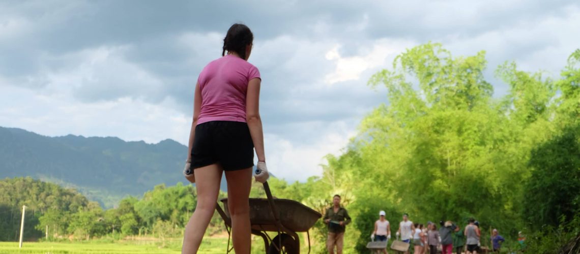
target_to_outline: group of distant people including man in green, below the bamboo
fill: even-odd
[[[343,238],[346,225],[351,222],[351,218],[346,209],[340,206],[340,196],[335,195],[333,205],[327,209],[324,215],[324,223],[328,225],[327,250],[328,253],[341,254],[343,249]],[[371,241],[388,242],[391,239],[391,224],[386,218],[386,212],[379,212],[379,219],[376,220],[374,230],[371,233]],[[413,246],[415,254],[436,254],[441,251],[443,254],[452,253],[481,253],[480,237],[481,230],[479,223],[474,219],[469,219],[465,227],[460,227],[451,221],[440,221],[439,226],[433,222],[427,222],[426,226],[413,223],[409,220],[407,213],[403,214],[403,220],[399,223],[396,236],[400,241],[407,242]],[[498,234],[498,230],[492,231],[493,251],[499,252],[501,244],[505,239]],[[380,252],[387,253],[387,249]],[[409,251],[405,252],[406,254]]]

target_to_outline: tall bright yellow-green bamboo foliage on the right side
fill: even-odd
[[[407,212],[420,223],[474,217],[512,238],[527,226],[524,214],[542,226],[577,212],[578,138],[571,135],[579,129],[564,127],[578,126],[579,61],[576,51],[561,79],[506,62],[496,75],[509,91],[493,97],[484,51],[454,57],[427,43],[396,57],[369,80],[386,88],[388,103],[364,117],[342,155],[328,157],[317,183],[349,193],[356,233],[347,238],[358,240],[346,241],[364,251],[380,209],[391,211],[393,230]],[[553,140],[563,132],[565,141]]]

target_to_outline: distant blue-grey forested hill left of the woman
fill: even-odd
[[[106,208],[161,183],[188,183],[182,175],[186,153],[187,147],[172,139],[149,144],[115,137],[45,137],[0,127],[0,178],[31,176],[75,187]]]

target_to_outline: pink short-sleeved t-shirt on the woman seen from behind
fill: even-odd
[[[197,124],[211,121],[246,122],[248,82],[260,78],[258,68],[233,55],[213,60],[201,71],[201,111]]]

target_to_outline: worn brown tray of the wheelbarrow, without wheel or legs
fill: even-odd
[[[280,222],[282,226],[294,232],[308,231],[322,215],[294,200],[283,198],[274,198],[274,205],[280,213]],[[227,198],[222,198],[224,212],[228,219],[231,219],[230,212],[227,209]],[[253,230],[258,231],[278,231],[276,219],[267,198],[250,198],[250,223]],[[229,225],[231,226],[231,225]]]

